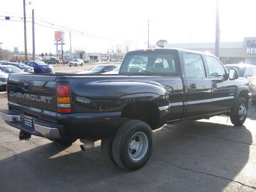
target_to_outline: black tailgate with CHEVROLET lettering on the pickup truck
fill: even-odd
[[[8,96],[11,103],[56,112],[56,76],[10,74]]]

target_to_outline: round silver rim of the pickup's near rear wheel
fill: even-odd
[[[146,155],[147,148],[148,138],[146,134],[137,132],[129,141],[128,154],[133,161],[139,161]]]

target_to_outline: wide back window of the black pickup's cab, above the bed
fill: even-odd
[[[131,53],[124,58],[119,74],[176,76],[174,57],[174,53]]]

